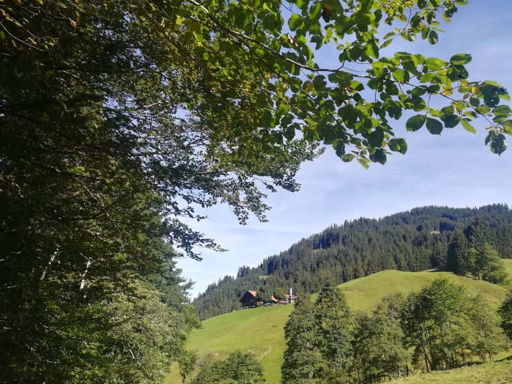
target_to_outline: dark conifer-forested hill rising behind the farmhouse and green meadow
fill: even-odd
[[[321,233],[270,256],[254,268],[240,267],[193,301],[200,318],[238,309],[246,289],[267,291],[293,287],[298,294],[385,269],[422,271],[446,264],[446,250],[456,227],[474,218],[489,224],[494,247],[512,258],[512,211],[506,204],[480,208],[421,207],[381,219],[360,218],[334,224]]]

